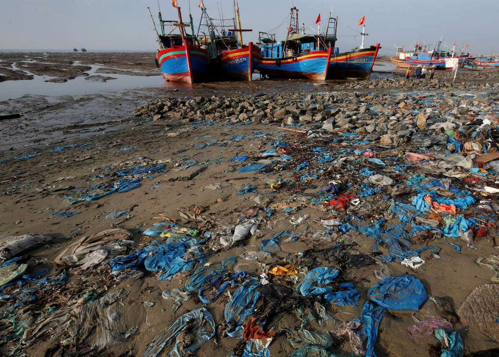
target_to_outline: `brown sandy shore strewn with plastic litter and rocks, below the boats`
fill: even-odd
[[[499,80],[446,76],[131,91],[102,99],[88,122],[88,98],[40,101],[39,121],[79,106],[83,121],[59,119],[57,140],[1,151],[1,234],[51,238],[7,265],[30,277],[2,290],[2,355],[156,356],[164,337],[157,356],[187,356],[193,343],[200,357],[349,356],[356,341],[378,356],[439,356],[433,331],[408,335],[430,317],[466,353],[496,348],[497,306],[485,299],[495,273],[477,260],[498,256],[499,162],[480,157],[499,150]],[[95,249],[68,250],[108,229]],[[165,265],[165,249],[180,260]],[[401,264],[415,256],[425,262]],[[395,300],[419,287],[401,310],[387,299],[383,311],[371,290],[390,276],[414,283]],[[368,330],[366,304],[379,313]]]

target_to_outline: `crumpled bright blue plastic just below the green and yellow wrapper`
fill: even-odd
[[[159,280],[169,280],[178,272],[194,269],[197,262],[206,262],[205,256],[197,249],[191,250],[191,255],[197,253],[196,258],[184,259],[187,249],[188,246],[180,242],[162,244],[148,254],[144,266],[148,271],[163,270]]]

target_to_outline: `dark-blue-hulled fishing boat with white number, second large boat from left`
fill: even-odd
[[[205,19],[208,35],[198,37],[199,43],[204,44],[209,51],[208,63],[209,80],[213,81],[250,81],[253,71],[258,65],[260,52],[253,43],[243,44],[243,32],[251,31],[241,29],[239,5],[234,3],[236,17],[220,19],[218,24],[208,15],[203,2],[201,22]],[[236,26],[236,18],[238,26]],[[198,36],[201,30],[201,22]],[[239,36],[238,36],[239,34]]]

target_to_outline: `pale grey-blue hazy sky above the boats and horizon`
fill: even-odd
[[[163,19],[176,19],[171,0],[159,0]],[[178,0],[183,20],[189,19],[189,0]],[[204,0],[212,17],[232,17],[233,0]],[[194,23],[199,23],[199,0],[191,0]],[[461,50],[463,42],[472,54],[499,52],[497,16],[499,0],[239,0],[245,42],[256,42],[258,31],[277,29],[277,40],[285,37],[289,9],[299,9],[298,20],[305,22],[306,31],[315,30],[315,19],[321,13],[325,28],[331,11],[339,16],[338,42],[340,52],[360,45],[357,25],[366,16],[365,44],[381,43],[381,53],[395,54],[394,45],[406,48],[415,41],[424,41],[433,48],[443,36],[445,42]],[[0,49],[67,50],[86,47],[91,50],[155,50],[156,36],[147,11],[156,17],[156,0],[0,0]],[[158,28],[159,29],[159,28]],[[358,31],[355,32],[354,30]],[[356,37],[354,35],[357,34]]]

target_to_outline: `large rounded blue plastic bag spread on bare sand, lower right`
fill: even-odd
[[[390,310],[418,311],[428,299],[425,287],[412,275],[385,278],[367,291],[369,300]]]

